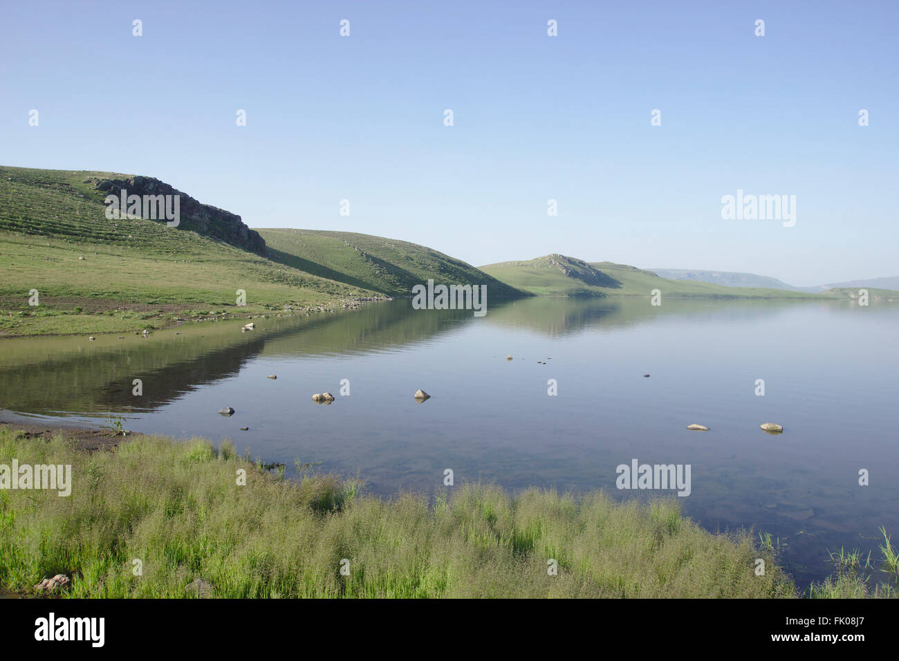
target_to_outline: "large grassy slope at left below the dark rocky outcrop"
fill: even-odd
[[[0,335],[134,331],[378,296],[182,227],[188,223],[106,219],[96,182],[127,177],[0,166]],[[31,290],[40,305],[29,305]],[[245,307],[236,290],[245,290]]]

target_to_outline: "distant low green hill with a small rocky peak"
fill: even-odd
[[[502,262],[480,267],[522,290],[550,296],[663,296],[723,299],[814,299],[813,294],[755,287],[725,287],[709,282],[667,280],[654,272],[626,264],[587,263],[565,255],[546,255],[527,262]]]

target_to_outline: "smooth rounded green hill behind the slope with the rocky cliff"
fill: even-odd
[[[408,241],[353,232],[260,229],[269,257],[323,278],[389,296],[410,296],[414,285],[485,284],[492,298],[527,295],[471,264]]]

